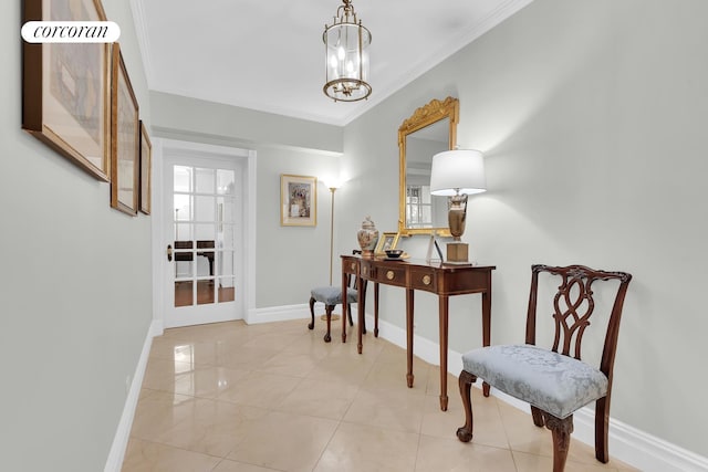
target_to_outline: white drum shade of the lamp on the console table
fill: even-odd
[[[454,149],[433,156],[430,193],[472,195],[487,191],[485,158],[479,150]]]

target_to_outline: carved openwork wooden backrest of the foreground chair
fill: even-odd
[[[535,345],[535,321],[539,291],[539,274],[548,272],[561,277],[558,293],[553,297],[553,319],[555,337],[552,350],[581,359],[581,345],[585,328],[590,326],[590,317],[595,310],[593,283],[595,281],[620,281],[615,301],[607,323],[607,332],[600,365],[607,377],[614,366],[622,307],[632,275],[626,272],[596,271],[584,265],[552,268],[535,264],[531,266],[531,294],[527,316],[527,344]]]

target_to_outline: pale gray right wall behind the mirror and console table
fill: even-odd
[[[532,263],[633,273],[612,417],[704,457],[706,18],[702,0],[535,0],[347,125],[340,207],[342,234],[364,213],[395,228],[396,128],[431,98],[459,97],[458,144],[487,156],[489,191],[470,198],[462,238],[497,265],[492,343],[523,340]],[[458,352],[480,344],[467,298],[450,317]],[[405,326],[403,292],[382,301]],[[416,295],[416,313],[437,340],[434,297]]]

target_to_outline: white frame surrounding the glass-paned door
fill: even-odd
[[[243,169],[243,321],[256,311],[256,150],[237,147],[192,143],[168,138],[153,138],[153,188],[152,188],[152,258],[153,258],[153,325],[156,335],[165,329],[166,287],[165,277],[170,268],[165,253],[165,156],[190,154],[195,157],[220,157],[246,159]]]

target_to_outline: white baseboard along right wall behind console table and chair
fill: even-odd
[[[374,317],[372,315],[366,315],[366,324],[373,326]],[[406,348],[406,331],[399,326],[379,319],[378,336],[396,346]],[[426,363],[440,365],[440,348],[437,343],[414,335],[413,345],[417,357]],[[462,370],[462,355],[455,350],[448,350],[447,357],[448,371],[459,376]],[[476,387],[481,388],[481,382],[477,384]],[[496,389],[492,389],[492,395],[527,412],[529,417],[531,416],[528,403]],[[448,396],[452,398],[450,392]],[[582,408],[576,411],[573,416],[573,438],[594,447],[594,410]],[[610,455],[646,472],[708,472],[708,458],[687,451],[613,418],[610,418]]]

